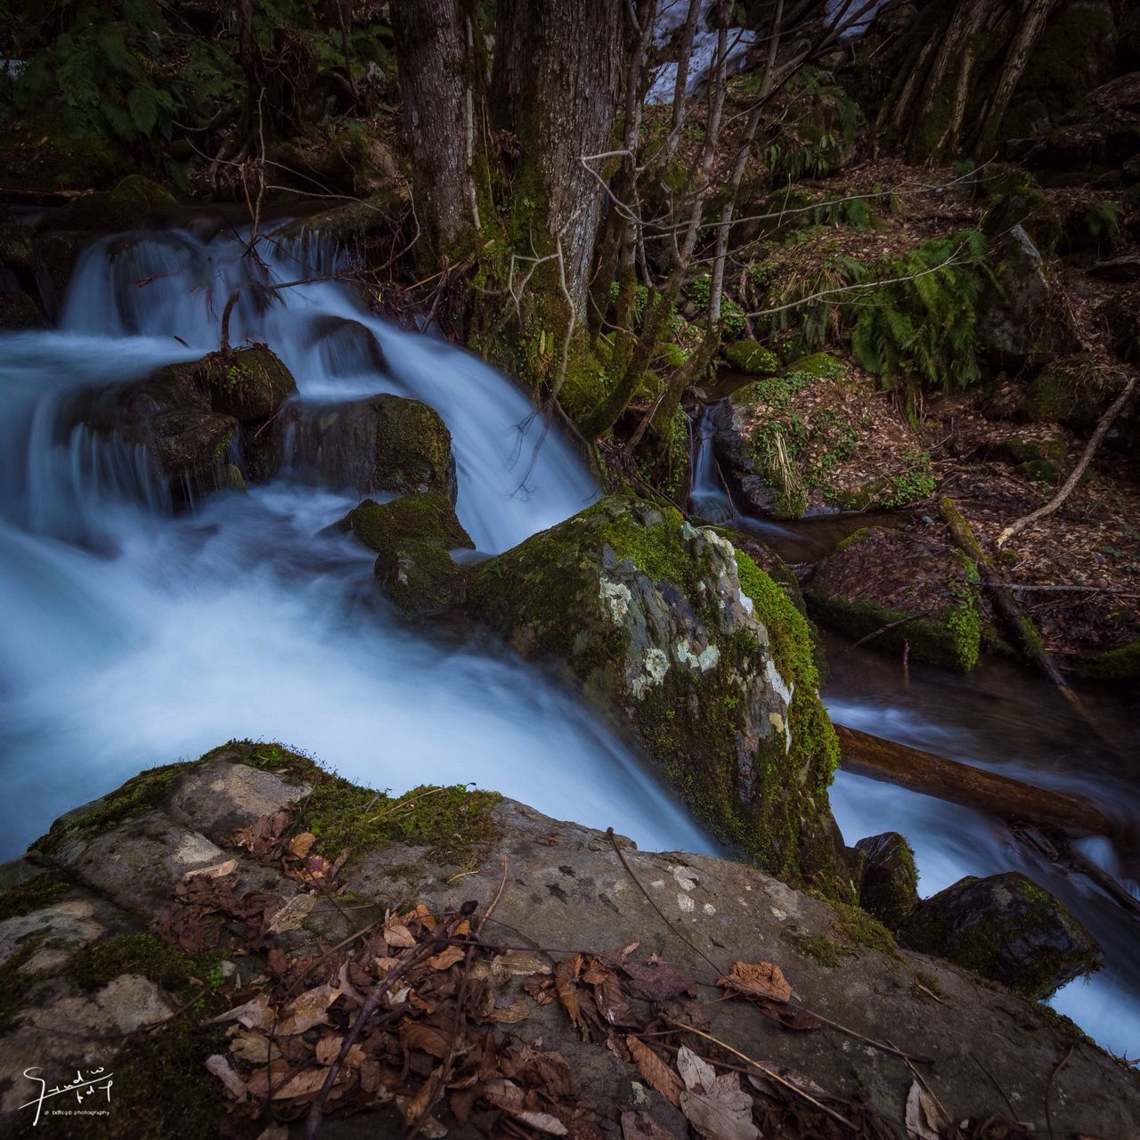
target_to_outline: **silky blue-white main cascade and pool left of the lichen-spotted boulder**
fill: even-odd
[[[276,280],[311,275],[262,253]],[[479,360],[369,317],[339,285],[283,290],[259,312],[260,278],[228,238],[112,239],[82,259],[59,329],[0,336],[0,855],[145,766],[244,736],[377,788],[474,781],[643,846],[714,849],[560,686],[401,626],[372,589],[369,553],[317,536],[352,491],[283,477],[174,515],[140,455],[73,429],[76,392],[217,348],[242,283],[231,342],[266,340],[300,399],[389,391],[439,410],[481,549],[595,497],[567,442]],[[388,367],[337,348],[327,318],[360,321]]]

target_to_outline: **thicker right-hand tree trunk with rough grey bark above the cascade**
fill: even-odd
[[[604,197],[581,160],[612,147],[622,42],[620,0],[499,0],[491,107],[520,150],[512,244],[519,254],[545,255],[561,241],[578,315]]]

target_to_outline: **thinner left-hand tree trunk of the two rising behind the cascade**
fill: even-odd
[[[474,140],[482,97],[472,0],[392,0],[400,90],[413,142],[416,218],[438,266],[479,228]]]

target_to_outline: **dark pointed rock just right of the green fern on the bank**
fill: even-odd
[[[1073,318],[1058,303],[1041,253],[1023,226],[990,251],[993,284],[979,302],[978,343],[1011,365],[1043,363],[1081,344]]]

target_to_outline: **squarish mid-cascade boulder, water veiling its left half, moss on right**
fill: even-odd
[[[456,496],[451,434],[426,404],[400,396],[304,405],[284,417],[302,473],[361,494]]]

